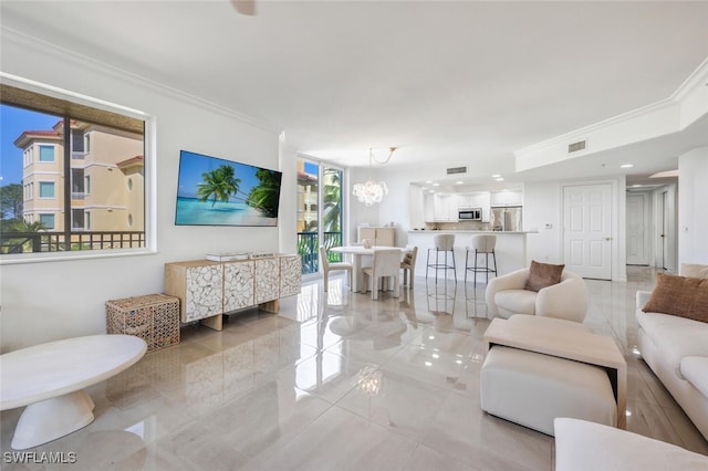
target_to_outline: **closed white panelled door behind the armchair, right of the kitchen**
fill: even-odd
[[[563,188],[563,261],[583,278],[612,278],[610,184]]]

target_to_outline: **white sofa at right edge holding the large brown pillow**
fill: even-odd
[[[707,265],[683,265],[681,275],[708,278]],[[708,323],[643,312],[650,292],[637,291],[636,320],[642,358],[708,439]]]

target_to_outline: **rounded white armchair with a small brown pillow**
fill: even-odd
[[[541,315],[583,322],[587,313],[587,286],[580,275],[563,271],[561,282],[535,291],[524,290],[529,269],[489,280],[487,308],[493,316]]]

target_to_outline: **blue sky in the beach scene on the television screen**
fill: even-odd
[[[259,184],[258,178],[256,178],[258,167],[183,150],[179,158],[179,188],[177,189],[177,196],[194,198],[197,185],[204,182],[201,174],[211,171],[222,165],[233,167],[236,178],[241,180],[239,185],[240,191],[248,195],[251,188]]]

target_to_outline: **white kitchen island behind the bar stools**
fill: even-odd
[[[465,280],[465,257],[466,248],[471,247],[475,236],[497,236],[497,274],[506,274],[529,265],[527,261],[527,236],[538,233],[537,231],[473,231],[473,230],[412,230],[408,231],[408,244],[418,247],[418,259],[416,260],[416,276],[425,276],[427,268],[428,249],[434,249],[433,237],[436,234],[455,234],[455,264],[457,268],[457,280]],[[435,257],[430,252],[430,259]],[[483,263],[483,255],[480,262]],[[473,264],[473,257],[470,254],[470,265]],[[490,258],[491,264],[491,258]],[[441,275],[441,273],[439,273]],[[471,275],[471,273],[470,273]],[[430,271],[429,276],[435,276]],[[452,278],[452,273],[448,273]],[[469,275],[468,275],[469,278]],[[479,275],[478,275],[479,282]],[[483,280],[483,276],[482,276]]]

